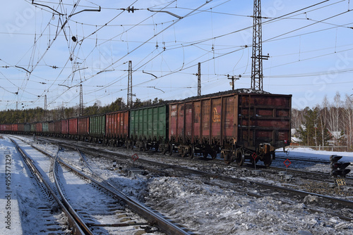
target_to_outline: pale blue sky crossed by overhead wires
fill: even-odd
[[[352,5],[262,1],[263,90],[300,109],[353,94]],[[252,15],[239,0],[8,1],[0,110],[78,106],[80,85],[84,106],[126,102],[128,61],[133,101],[196,96],[198,63],[201,94],[232,89],[228,75],[250,88]]]

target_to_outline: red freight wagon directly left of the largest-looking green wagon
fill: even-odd
[[[109,145],[122,146],[128,139],[128,110],[105,115],[105,135]]]

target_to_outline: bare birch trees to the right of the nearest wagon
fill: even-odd
[[[292,109],[292,129],[304,146],[347,146],[353,151],[353,97],[339,92],[333,101],[324,97],[321,105]]]

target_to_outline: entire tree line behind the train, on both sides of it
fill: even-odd
[[[141,101],[136,99],[132,108],[140,108],[162,103],[162,99]],[[96,101],[92,106],[83,108],[83,116],[100,115],[119,110],[125,110],[126,103],[122,98],[102,106]],[[61,120],[76,118],[79,115],[78,106],[71,108],[56,108],[44,110],[43,108],[30,108],[26,110],[0,111],[0,123],[30,123],[44,120]],[[337,92],[333,101],[328,101],[327,96],[321,105],[302,110],[292,109],[292,135],[299,139],[299,144],[304,146],[347,146],[353,151],[353,96],[345,95],[344,99]]]

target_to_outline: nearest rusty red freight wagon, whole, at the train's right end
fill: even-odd
[[[291,95],[226,91],[169,103],[169,141],[182,156],[201,153],[226,163],[270,165],[289,145]]]

